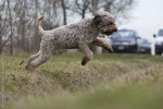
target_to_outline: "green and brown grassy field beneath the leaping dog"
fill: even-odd
[[[54,56],[35,71],[18,65],[26,56],[0,56],[4,109],[163,109],[163,58],[80,53]],[[2,83],[3,82],[3,83]],[[3,95],[3,96],[2,96]],[[2,98],[1,98],[2,100]]]

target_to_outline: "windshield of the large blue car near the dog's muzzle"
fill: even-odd
[[[113,34],[113,38],[126,38],[126,37],[133,37],[134,36],[134,32],[131,31],[120,31],[116,32],[115,34]]]

